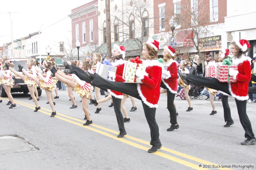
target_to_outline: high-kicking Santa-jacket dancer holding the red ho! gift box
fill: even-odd
[[[229,75],[233,76],[237,82],[235,83],[221,83],[218,79],[212,77],[199,77],[190,74],[183,74],[179,72],[182,80],[185,83],[197,83],[198,85],[207,86],[212,89],[220,90],[235,98],[240,122],[245,131],[245,141],[241,145],[252,145],[256,143],[256,138],[252,132],[251,122],[246,114],[246,103],[248,99],[248,84],[251,79],[251,58],[244,56],[250,49],[251,45],[247,40],[239,40],[231,42],[231,53],[233,64],[238,66],[238,70],[229,69]]]

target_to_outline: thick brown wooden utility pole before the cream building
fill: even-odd
[[[111,54],[111,29],[110,29],[110,1],[106,0],[106,37],[107,37],[107,56]]]

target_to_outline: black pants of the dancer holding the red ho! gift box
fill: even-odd
[[[218,81],[218,79],[215,79],[212,77],[199,77],[199,76],[187,74],[187,81],[197,83],[197,84],[200,84],[200,85],[203,85],[208,88],[215,89],[215,90],[220,90],[220,91],[223,91],[224,93],[227,93],[230,95],[228,83],[221,83]],[[252,139],[252,138],[254,138],[254,134],[252,132],[251,122],[246,114],[247,100],[240,101],[235,98],[235,101],[236,101],[236,105],[237,105],[239,119],[240,119],[240,122],[245,131],[244,136],[247,139]]]

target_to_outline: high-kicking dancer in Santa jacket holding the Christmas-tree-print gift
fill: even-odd
[[[159,139],[159,128],[156,123],[155,114],[157,102],[160,97],[160,83],[162,74],[162,64],[157,61],[159,42],[149,38],[145,42],[142,51],[142,58],[145,60],[143,64],[146,66],[146,71],[136,70],[136,76],[142,83],[122,83],[105,80],[98,74],[90,74],[89,72],[78,71],[74,66],[70,69],[71,73],[84,81],[91,82],[92,85],[98,86],[101,89],[110,89],[120,91],[142,101],[144,114],[150,127],[152,148],[149,153],[156,152],[162,147]],[[73,72],[73,70],[76,70]]]

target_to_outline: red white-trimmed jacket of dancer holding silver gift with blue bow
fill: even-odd
[[[114,82],[125,82],[125,80],[123,79],[123,70],[124,70],[125,62],[127,62],[127,61],[124,61],[122,59],[112,62],[112,66],[116,67],[116,74],[113,76]],[[118,91],[108,89],[108,93],[118,99],[122,99],[124,97],[123,93],[118,92]]]

